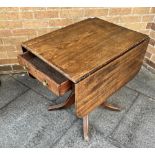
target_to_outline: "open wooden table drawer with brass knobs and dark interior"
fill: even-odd
[[[72,82],[30,52],[18,55],[20,65],[58,96],[71,89]]]

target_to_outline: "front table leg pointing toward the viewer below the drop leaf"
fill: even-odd
[[[88,130],[89,130],[89,125],[88,125],[88,115],[83,117],[83,136],[86,141],[89,141],[89,136],[88,136]]]

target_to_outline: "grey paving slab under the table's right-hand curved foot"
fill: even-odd
[[[107,137],[113,132],[119,121],[124,117],[126,111],[132,106],[137,95],[137,92],[123,87],[108,99],[109,103],[118,104],[122,107],[122,110],[116,112],[99,107],[90,113],[90,124]]]

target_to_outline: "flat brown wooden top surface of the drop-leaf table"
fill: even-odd
[[[77,83],[147,38],[99,18],[89,18],[22,46]]]

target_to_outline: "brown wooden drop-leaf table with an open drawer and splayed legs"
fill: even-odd
[[[75,103],[88,140],[88,114],[98,106],[120,110],[106,100],[140,70],[149,42],[147,35],[98,18],[89,18],[22,44],[19,62],[43,85]]]

